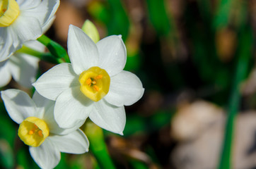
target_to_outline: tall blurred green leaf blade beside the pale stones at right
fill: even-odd
[[[233,89],[231,91],[230,102],[228,104],[228,118],[226,123],[225,138],[219,169],[230,169],[232,159],[232,144],[233,144],[233,126],[235,117],[238,114],[240,104],[240,84],[245,79],[248,64],[252,49],[252,34],[251,31],[245,29],[241,32],[240,50],[238,53],[238,63],[235,72],[235,79],[233,82]]]

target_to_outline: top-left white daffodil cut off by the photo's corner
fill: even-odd
[[[59,0],[0,1],[0,62],[42,35],[54,19]]]

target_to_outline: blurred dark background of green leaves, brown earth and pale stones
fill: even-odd
[[[62,0],[46,35],[66,47],[69,24],[86,19],[101,38],[122,35],[124,69],[145,88],[124,136],[104,131],[116,168],[256,168],[256,1]],[[0,111],[1,168],[37,168],[2,101]],[[100,166],[89,151],[57,168]]]

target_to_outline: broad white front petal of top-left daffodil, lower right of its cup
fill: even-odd
[[[22,29],[21,29],[22,27]],[[16,33],[21,44],[28,40],[35,40],[42,35],[42,26],[39,21],[30,15],[30,17],[22,13],[11,24],[13,32]]]

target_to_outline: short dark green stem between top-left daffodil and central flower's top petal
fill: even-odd
[[[56,58],[64,58],[64,61],[70,62],[69,61],[69,56],[66,53],[66,49],[64,49],[60,44],[57,42],[54,42],[52,39],[49,37],[42,35],[37,39],[38,42],[41,42],[44,44],[47,49],[49,49],[50,53],[55,56]]]

